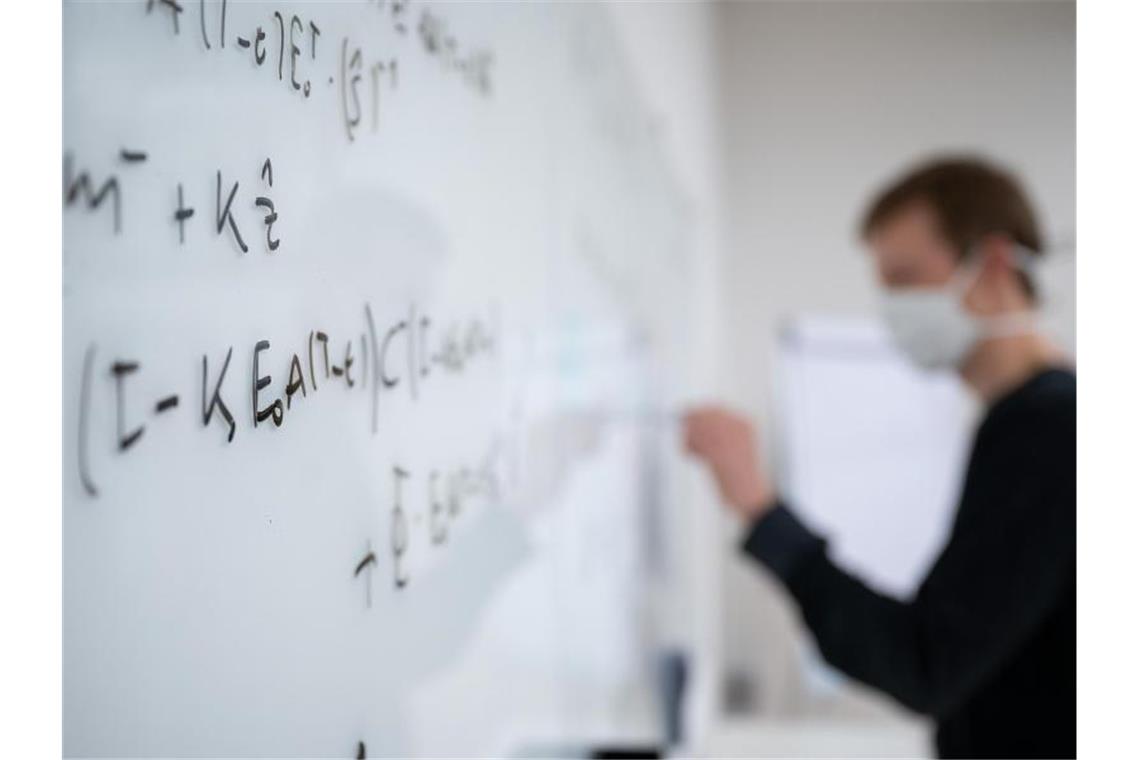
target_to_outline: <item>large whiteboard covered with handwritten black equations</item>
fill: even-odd
[[[604,9],[72,1],[63,85],[65,754],[659,737],[691,224]]]

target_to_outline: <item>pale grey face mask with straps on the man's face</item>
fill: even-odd
[[[1018,265],[1035,263],[1018,250]],[[978,317],[962,303],[980,275],[977,256],[967,255],[951,280],[934,287],[893,287],[882,294],[882,316],[899,350],[922,369],[955,369],[980,341],[1032,333],[1036,320],[1024,311]]]

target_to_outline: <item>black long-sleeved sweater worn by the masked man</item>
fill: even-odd
[[[942,757],[1076,754],[1076,377],[992,404],[946,546],[911,600],[828,558],[782,504],[744,550],[796,598],[823,657],[938,724]]]

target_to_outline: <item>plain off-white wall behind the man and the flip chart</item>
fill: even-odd
[[[937,150],[982,152],[1019,172],[1047,235],[1075,229],[1075,13],[1070,2],[730,2],[718,6],[728,332],[724,390],[771,418],[782,316],[871,313],[855,235],[869,193]],[[1053,267],[1073,342],[1072,258]],[[725,562],[726,667],[772,716],[890,714],[813,698],[798,622],[759,572]]]

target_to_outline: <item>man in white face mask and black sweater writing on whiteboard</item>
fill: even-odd
[[[1035,328],[1033,211],[1003,171],[946,160],[887,188],[862,231],[898,348],[986,404],[953,529],[914,598],[832,564],[774,491],[748,419],[692,410],[686,446],[824,659],[933,716],[940,755],[1074,757],[1076,377]]]

